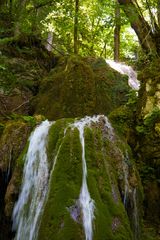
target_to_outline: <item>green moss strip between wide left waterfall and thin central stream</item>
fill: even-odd
[[[60,139],[61,143],[57,142],[60,150],[50,180],[38,239],[53,239],[53,236],[58,240],[83,239],[82,225],[74,222],[67,210],[78,199],[82,181],[79,133],[76,129],[67,130],[65,137]]]

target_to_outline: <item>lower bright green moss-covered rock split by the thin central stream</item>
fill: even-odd
[[[38,240],[85,238],[78,201],[82,185],[82,146],[79,131],[73,128],[72,122],[72,119],[58,120],[49,131],[47,152],[50,169],[53,169]],[[139,229],[135,232],[133,229],[136,224],[140,225],[141,187],[133,161],[125,160],[127,148],[115,134],[110,135],[103,117],[85,128],[87,183],[95,203],[94,240],[132,239],[135,234],[139,239]],[[133,198],[135,189],[141,196],[139,203],[137,193]]]

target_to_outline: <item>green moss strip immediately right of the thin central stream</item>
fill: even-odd
[[[86,159],[88,167],[88,186],[95,201],[94,239],[132,239],[128,217],[116,192],[114,200],[112,188],[116,186],[116,175],[112,160],[106,155],[100,130],[85,132]],[[109,145],[107,144],[109,147]],[[115,187],[115,191],[118,189]],[[114,229],[114,219],[119,225]]]

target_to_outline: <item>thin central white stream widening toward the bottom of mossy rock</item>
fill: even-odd
[[[90,197],[90,193],[87,186],[87,165],[85,159],[84,129],[86,126],[90,127],[93,123],[100,123],[101,119],[104,119],[105,127],[107,127],[108,130],[110,131],[109,135],[113,136],[113,130],[108,119],[101,115],[94,117],[85,117],[71,125],[72,128],[77,128],[79,130],[80,142],[82,145],[83,178],[79,202],[83,213],[83,226],[86,240],[92,240],[93,237],[92,221],[94,219],[95,205],[94,200]]]

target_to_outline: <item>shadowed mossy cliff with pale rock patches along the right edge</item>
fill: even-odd
[[[145,219],[159,228],[160,207],[160,73],[159,59],[148,62],[140,71],[142,81],[137,106],[135,146],[144,184]]]

